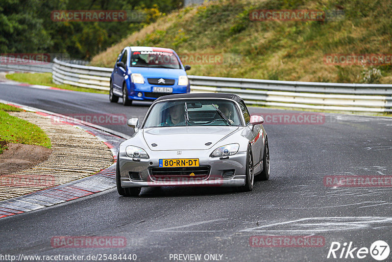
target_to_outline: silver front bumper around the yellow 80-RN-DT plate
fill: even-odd
[[[144,186],[241,186],[245,184],[246,152],[238,152],[228,159],[209,157],[208,150],[150,152],[149,159],[133,159],[120,150],[119,166],[122,187]],[[197,154],[198,153],[198,154]],[[154,157],[151,157],[154,155]],[[158,156],[158,157],[155,157]],[[170,174],[157,179],[153,169],[159,169],[159,159],[199,158],[199,165],[209,167],[208,174],[203,176],[184,175],[181,177]],[[232,174],[226,176],[226,174]]]

